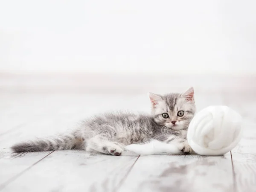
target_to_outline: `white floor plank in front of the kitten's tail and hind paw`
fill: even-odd
[[[55,151],[5,187],[5,192],[115,191],[137,157]]]

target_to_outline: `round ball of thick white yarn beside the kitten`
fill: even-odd
[[[227,106],[209,106],[199,111],[189,124],[188,143],[201,155],[223,155],[242,137],[242,118]]]

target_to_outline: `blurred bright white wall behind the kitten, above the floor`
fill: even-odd
[[[0,1],[1,72],[256,73],[254,0]]]

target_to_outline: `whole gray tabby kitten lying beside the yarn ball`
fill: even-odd
[[[120,155],[125,145],[159,140],[177,145],[189,153],[187,128],[195,113],[194,89],[185,93],[158,95],[149,93],[151,115],[134,113],[105,113],[84,120],[70,134],[35,139],[12,146],[15,152],[83,149]]]

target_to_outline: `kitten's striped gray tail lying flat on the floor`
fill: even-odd
[[[35,151],[55,151],[79,149],[83,143],[83,138],[77,138],[73,134],[56,135],[47,138],[36,138],[34,140],[23,141],[13,145],[14,152],[35,152]]]

